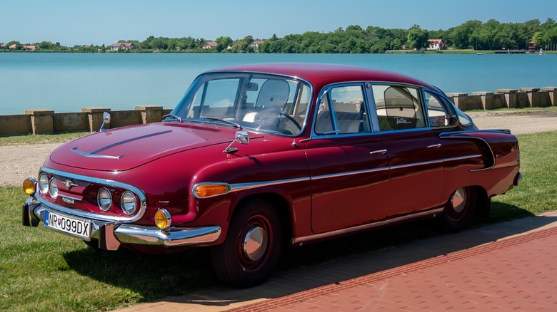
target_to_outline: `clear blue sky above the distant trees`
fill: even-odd
[[[110,44],[149,36],[279,37],[350,25],[448,29],[557,18],[554,0],[1,0],[0,43]]]

